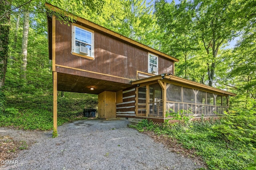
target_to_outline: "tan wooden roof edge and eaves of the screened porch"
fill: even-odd
[[[148,77],[148,78],[145,78],[145,79],[132,81],[132,85],[145,85],[145,84],[157,82],[158,80],[165,81],[167,83],[174,83],[174,84],[178,84],[178,85],[181,85],[181,86],[190,87],[190,88],[194,88],[194,89],[199,89],[199,90],[202,90],[202,91],[208,91],[208,92],[216,93],[216,94],[219,94],[219,95],[236,96],[235,93],[230,93],[228,91],[224,91],[224,90],[221,90],[221,89],[210,87],[208,85],[197,83],[195,81],[190,81],[190,80],[187,80],[187,79],[183,79],[181,77],[177,77],[177,76],[174,76],[174,75],[171,75],[171,74],[161,74],[161,75]]]

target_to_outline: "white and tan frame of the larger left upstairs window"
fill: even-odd
[[[80,40],[76,40],[76,33],[75,33],[76,28],[79,28],[80,30],[91,33],[91,44],[82,42]],[[78,46],[76,46],[76,43],[75,43],[76,41],[91,45],[90,54],[85,55],[85,54],[82,54],[82,53],[79,53],[78,51],[76,51],[77,47],[78,47]],[[76,48],[76,50],[75,50],[75,48]],[[77,55],[77,56],[84,57],[87,59],[94,59],[94,31],[73,23],[72,24],[72,51],[71,51],[71,53],[72,53],[72,55]]]

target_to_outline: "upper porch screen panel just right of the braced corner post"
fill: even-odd
[[[166,98],[167,101],[181,102],[181,86],[167,83]]]

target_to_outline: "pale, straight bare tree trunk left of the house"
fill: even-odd
[[[29,12],[24,12],[23,19],[23,38],[22,38],[22,65],[23,73],[21,77],[26,79],[27,57],[28,57],[28,27],[29,27]]]

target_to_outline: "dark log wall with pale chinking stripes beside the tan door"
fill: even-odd
[[[116,104],[116,117],[135,117],[135,89],[123,91],[123,102]]]

